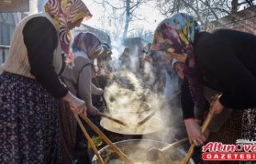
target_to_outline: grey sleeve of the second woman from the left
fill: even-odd
[[[82,72],[80,72],[78,88],[79,88],[79,96],[82,100],[85,100],[86,107],[90,108],[93,106],[91,99],[91,78],[92,78],[92,68],[91,65],[87,65],[82,68]]]

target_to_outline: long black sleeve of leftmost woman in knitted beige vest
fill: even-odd
[[[53,66],[54,49],[58,45],[54,25],[46,18],[33,18],[26,23],[22,33],[31,74],[54,98],[66,96],[68,90],[61,84]]]

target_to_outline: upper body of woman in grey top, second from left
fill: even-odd
[[[104,92],[91,82],[97,67],[94,62],[102,51],[102,42],[93,33],[79,33],[73,43],[74,68],[66,67],[62,73],[67,85],[86,101],[87,110],[93,115],[98,113],[98,109],[92,104],[91,94],[102,95]]]

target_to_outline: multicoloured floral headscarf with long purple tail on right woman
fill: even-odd
[[[152,50],[187,55],[184,65],[184,75],[190,84],[190,93],[197,107],[204,107],[203,87],[194,62],[194,36],[202,29],[201,25],[188,14],[174,14],[162,21],[154,32]]]

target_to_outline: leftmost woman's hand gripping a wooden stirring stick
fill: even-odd
[[[70,104],[70,110],[75,115],[78,115],[82,112],[84,115],[86,115],[86,103],[83,100],[78,99],[71,92],[68,92],[62,99]]]

